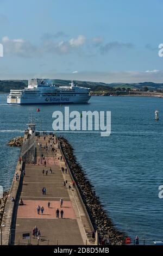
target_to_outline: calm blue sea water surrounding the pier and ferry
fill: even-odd
[[[36,112],[36,108],[40,112]],[[163,240],[163,99],[156,97],[92,97],[88,105],[71,110],[111,111],[111,135],[66,133],[74,153],[96,188],[108,215],[132,238]],[[160,120],[154,121],[159,109]],[[26,129],[31,113],[37,129],[52,130],[52,113],[64,106],[8,106],[0,94],[0,185],[9,188],[20,149],[9,148],[9,139]]]

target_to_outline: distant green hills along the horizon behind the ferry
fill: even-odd
[[[68,86],[70,80],[51,80],[57,86]],[[163,83],[143,82],[143,83],[102,83],[89,81],[73,81],[78,86],[90,88],[93,92],[115,92],[117,89],[143,89],[148,87],[151,90],[163,89]],[[23,89],[28,86],[27,80],[0,80],[0,92],[9,93],[10,89]]]

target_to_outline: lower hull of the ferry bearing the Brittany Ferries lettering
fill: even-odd
[[[78,96],[40,96],[40,97],[8,97],[8,104],[55,104],[55,103],[87,103],[90,99],[90,95],[78,95]]]

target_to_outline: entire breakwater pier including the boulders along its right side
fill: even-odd
[[[122,245],[124,234],[106,216],[71,145],[29,124],[4,208],[2,245],[95,245],[102,239]]]

